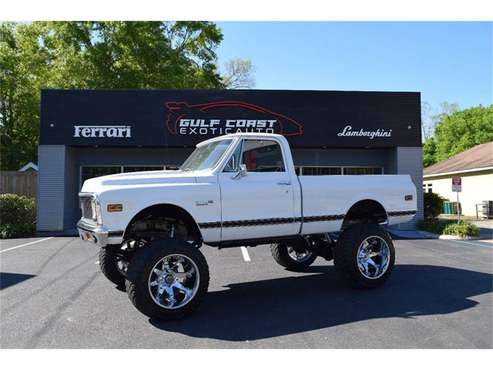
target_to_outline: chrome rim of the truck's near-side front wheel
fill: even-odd
[[[170,254],[154,265],[149,274],[148,287],[157,305],[175,310],[195,297],[199,282],[195,262],[182,254]]]

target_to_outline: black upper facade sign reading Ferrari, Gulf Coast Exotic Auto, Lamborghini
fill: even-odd
[[[41,93],[40,145],[183,148],[237,132],[280,134],[295,148],[417,147],[420,96],[171,89]]]

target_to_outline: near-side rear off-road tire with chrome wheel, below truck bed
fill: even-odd
[[[392,239],[375,224],[357,224],[345,229],[334,248],[337,271],[358,288],[376,288],[383,284],[394,262]]]

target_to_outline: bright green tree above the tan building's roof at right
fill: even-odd
[[[435,129],[436,161],[493,141],[493,105],[444,115]]]

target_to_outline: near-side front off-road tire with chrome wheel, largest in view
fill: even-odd
[[[132,304],[161,320],[194,311],[209,286],[209,266],[193,245],[180,240],[154,240],[132,257],[125,283]]]

